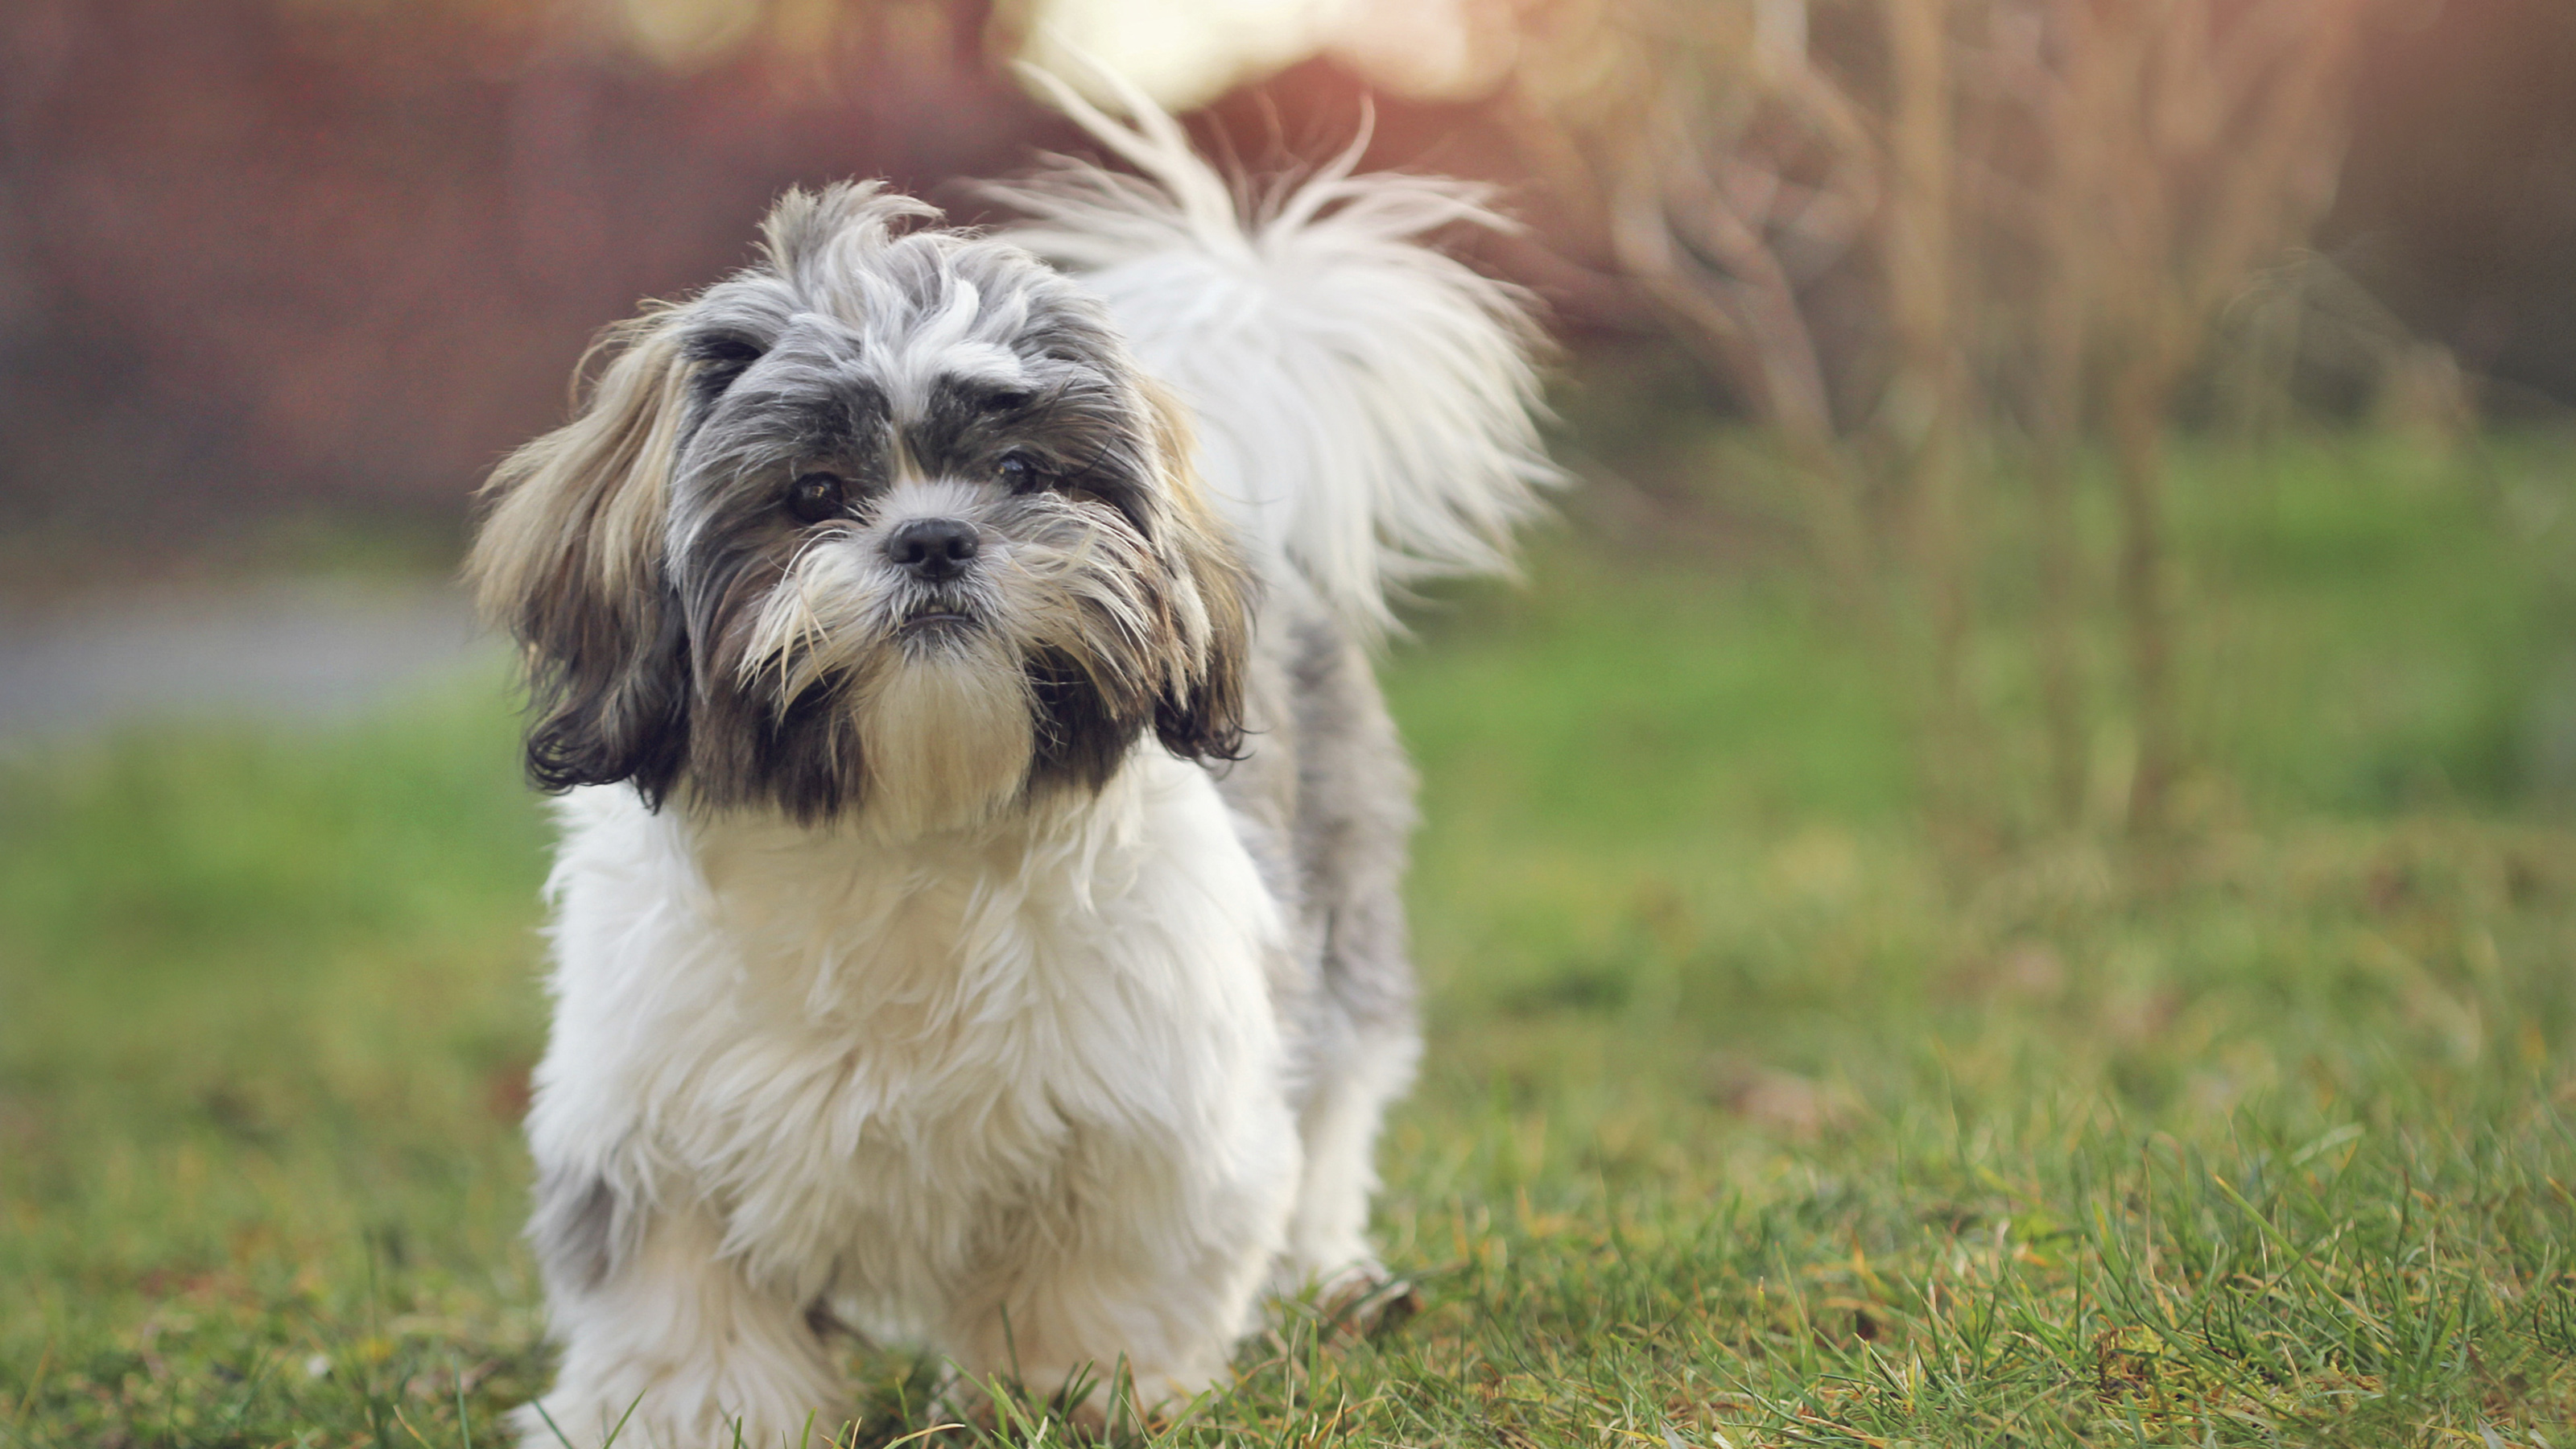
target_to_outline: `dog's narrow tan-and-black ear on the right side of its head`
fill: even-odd
[[[1234,761],[1244,748],[1244,678],[1252,670],[1252,570],[1234,531],[1208,505],[1190,464],[1190,428],[1177,400],[1146,389],[1162,464],[1154,552],[1172,575],[1175,657],[1154,699],[1154,735],[1195,761]]]

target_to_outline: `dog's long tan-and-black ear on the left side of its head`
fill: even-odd
[[[693,364],[670,312],[600,340],[572,423],[484,485],[466,557],[484,619],[528,663],[528,773],[549,792],[634,781],[659,804],[688,755],[688,639],[662,567],[670,467]]]

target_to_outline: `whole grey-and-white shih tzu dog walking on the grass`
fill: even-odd
[[[793,191],[489,482],[469,578],[567,792],[528,1444],[804,1444],[832,1325],[1170,1405],[1265,1292],[1383,1276],[1412,776],[1365,647],[1551,480],[1535,335],[1419,242],[1468,188],[1242,201],[1056,90],[1144,175],[997,186],[997,235]]]

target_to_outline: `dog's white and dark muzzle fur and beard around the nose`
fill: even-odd
[[[819,748],[891,835],[984,825],[1033,781],[1097,786],[1151,722],[1175,660],[1167,583],[1133,531],[1061,498],[914,485],[809,541],[750,611],[734,683],[827,709]],[[884,562],[907,516],[976,518],[992,544],[922,585]]]

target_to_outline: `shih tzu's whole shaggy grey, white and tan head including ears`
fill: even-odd
[[[1247,575],[1177,415],[1025,253],[842,186],[631,322],[469,575],[541,784],[912,833],[1242,737]]]

